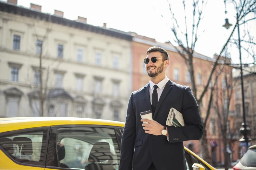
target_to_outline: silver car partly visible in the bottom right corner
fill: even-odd
[[[256,145],[248,148],[247,152],[241,158],[239,163],[237,163],[233,170],[250,170],[256,169]]]

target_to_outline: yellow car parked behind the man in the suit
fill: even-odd
[[[0,119],[1,170],[118,170],[125,123],[67,117]],[[185,149],[188,170],[216,170]]]

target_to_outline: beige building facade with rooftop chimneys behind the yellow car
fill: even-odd
[[[132,91],[128,33],[0,2],[0,117],[86,117],[125,121]],[[42,46],[41,46],[42,44]]]

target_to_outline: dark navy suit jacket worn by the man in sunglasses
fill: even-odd
[[[149,83],[132,92],[122,135],[120,170],[147,170],[153,162],[157,170],[186,170],[183,141],[198,140],[203,134],[196,99],[188,86],[168,81],[158,101],[153,120],[165,125],[170,108],[183,115],[186,126],[167,126],[166,136],[146,134],[140,112],[151,109]]]

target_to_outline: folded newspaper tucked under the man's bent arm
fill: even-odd
[[[166,125],[175,127],[186,126],[182,114],[173,107],[170,109]]]

